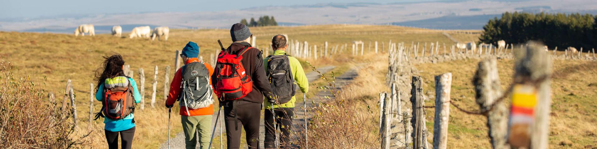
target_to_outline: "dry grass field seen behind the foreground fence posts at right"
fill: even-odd
[[[424,92],[435,96],[433,76],[451,72],[452,100],[468,110],[478,109],[472,77],[479,60],[458,60],[439,64],[419,64]],[[590,61],[553,62],[552,114],[550,121],[550,148],[583,148],[597,145],[597,64]],[[512,83],[513,60],[498,60],[498,71],[503,89]],[[430,91],[430,92],[429,92]],[[429,100],[426,105],[433,105]],[[509,102],[507,102],[509,103]],[[427,128],[433,130],[433,108],[427,108]],[[491,148],[484,116],[470,115],[451,108],[448,127],[449,148]],[[429,139],[432,142],[432,139]]]

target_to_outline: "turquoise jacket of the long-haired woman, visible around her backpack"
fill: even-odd
[[[133,80],[132,78],[128,78],[128,81],[131,82],[131,86],[133,86],[133,89],[134,89],[135,103],[140,103],[141,102],[141,94],[139,94],[139,89],[137,88],[137,82],[135,82],[135,80]],[[101,83],[101,85],[99,86],[99,89],[97,89],[97,92],[96,92],[96,100],[97,101],[103,100],[103,97],[104,97],[103,88],[104,88],[104,83]],[[127,129],[131,129],[135,126],[135,123],[133,123],[134,117],[135,116],[133,115],[133,113],[131,113],[127,117],[124,117],[124,119],[121,119],[121,120],[112,120],[112,119],[108,119],[106,117],[106,118],[104,118],[104,124],[106,125],[106,126],[104,126],[104,129],[106,129],[107,131],[111,131],[111,132],[126,131]]]

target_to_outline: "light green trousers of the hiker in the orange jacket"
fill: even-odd
[[[184,144],[187,149],[195,149],[197,145],[197,134],[199,135],[199,145],[201,149],[207,149],[211,138],[211,115],[205,116],[180,116],[183,123]]]

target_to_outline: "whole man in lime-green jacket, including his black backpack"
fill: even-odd
[[[270,103],[264,100],[265,113],[265,148],[291,148],[290,129],[293,127],[294,103],[296,98],[296,86],[303,94],[309,91],[309,80],[304,75],[303,67],[298,60],[286,54],[287,39],[284,35],[276,35],[272,38],[273,55],[263,59],[267,76],[272,85],[273,94],[281,104]],[[273,108],[273,110],[272,110]],[[273,113],[272,113],[273,111]],[[276,117],[275,121],[273,116]],[[273,124],[276,125],[273,125]],[[272,126],[273,125],[273,126]],[[280,129],[280,146],[276,147],[276,128]]]

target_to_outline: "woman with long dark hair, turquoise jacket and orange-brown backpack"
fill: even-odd
[[[96,74],[96,100],[101,101],[101,110],[96,119],[104,117],[104,133],[108,148],[118,148],[120,134],[121,148],[131,148],[135,135],[135,104],[141,102],[141,94],[133,78],[124,74],[124,60],[119,54],[104,56],[103,72]],[[97,71],[96,71],[97,72]],[[95,120],[95,119],[94,119]]]

